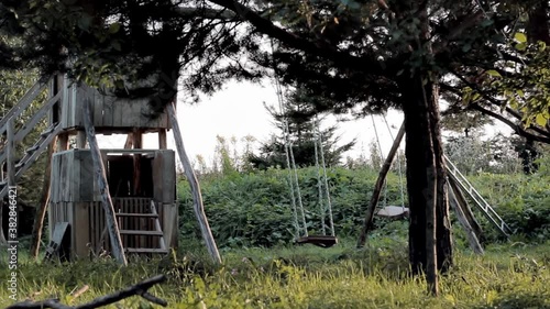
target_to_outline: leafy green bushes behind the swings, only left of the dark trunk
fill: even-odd
[[[332,168],[327,174],[334,229],[339,236],[354,238],[363,223],[377,172]],[[317,170],[299,169],[298,180],[308,231],[320,234]],[[201,190],[212,233],[221,247],[273,246],[296,238],[287,170],[268,169],[208,178],[201,183]],[[179,197],[184,238],[200,238],[185,181],[179,185]],[[398,176],[389,175],[387,195],[382,199],[381,203],[402,205]],[[301,220],[299,222],[301,227]],[[329,225],[328,213],[324,223]]]

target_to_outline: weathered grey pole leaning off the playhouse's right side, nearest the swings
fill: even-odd
[[[210,256],[212,257],[215,263],[221,264],[221,256],[216,245],[216,241],[212,236],[212,231],[210,230],[210,225],[208,224],[208,219],[205,213],[205,206],[202,205],[202,196],[200,194],[200,185],[199,181],[197,180],[195,172],[193,170],[191,162],[189,161],[189,157],[185,152],[184,141],[182,139],[182,132],[179,131],[179,125],[176,118],[176,109],[174,104],[175,104],[174,102],[169,103],[166,107],[166,109],[168,111],[172,130],[174,131],[174,140],[176,141],[176,147],[179,154],[179,159],[184,165],[185,175],[187,176],[187,180],[189,181],[189,186],[191,187],[193,199],[195,201],[194,203],[195,216],[197,217],[197,221],[199,222],[200,232],[202,233],[202,239],[205,240]]]

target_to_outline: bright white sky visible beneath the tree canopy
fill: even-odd
[[[178,93],[180,101],[184,96],[183,91]],[[258,141],[266,141],[271,133],[276,132],[276,129],[263,102],[278,106],[275,89],[268,82],[264,85],[229,82],[222,91],[215,96],[204,97],[199,104],[190,106],[179,102],[177,107],[178,121],[189,158],[195,161],[197,155],[202,155],[207,163],[210,163],[217,144],[217,135],[221,135],[227,140],[232,136],[241,140],[246,135],[252,135]],[[324,122],[324,125],[332,124],[336,121],[334,117],[330,117]],[[403,122],[403,115],[396,111],[391,111],[387,122],[393,136],[395,136]],[[375,124],[383,152],[387,154],[393,140],[382,117],[375,117]],[[369,144],[376,139],[371,117],[358,121],[339,122],[339,128],[342,142],[353,139],[358,141],[355,147],[346,155],[358,157],[362,151],[365,155],[369,155]],[[170,131],[168,147],[175,150],[172,134]],[[119,135],[110,136],[107,140],[105,137],[98,140],[101,147],[121,148],[125,136]],[[402,148],[404,148],[404,144],[402,144]],[[156,134],[145,135],[144,147],[158,147]]]

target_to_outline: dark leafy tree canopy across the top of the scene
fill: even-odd
[[[0,31],[24,44],[1,44],[0,66],[68,70],[165,103],[179,74],[196,95],[276,64],[285,82],[331,99],[320,110],[360,113],[406,102],[398,82],[422,70],[447,76],[441,90],[453,102],[549,142],[548,3],[417,2],[7,0]],[[425,8],[430,46],[414,47]]]

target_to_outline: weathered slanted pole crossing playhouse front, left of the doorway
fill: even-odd
[[[127,266],[127,257],[124,255],[124,247],[120,238],[119,224],[117,223],[114,207],[112,205],[111,195],[109,194],[109,184],[107,181],[106,169],[101,153],[99,151],[98,141],[96,140],[96,130],[91,122],[91,100],[86,99],[84,110],[84,125],[91,151],[91,159],[94,161],[94,170],[96,180],[98,181],[99,192],[101,195],[101,202],[106,213],[106,223],[109,231],[109,239],[111,240],[111,250],[114,258],[122,265]]]

